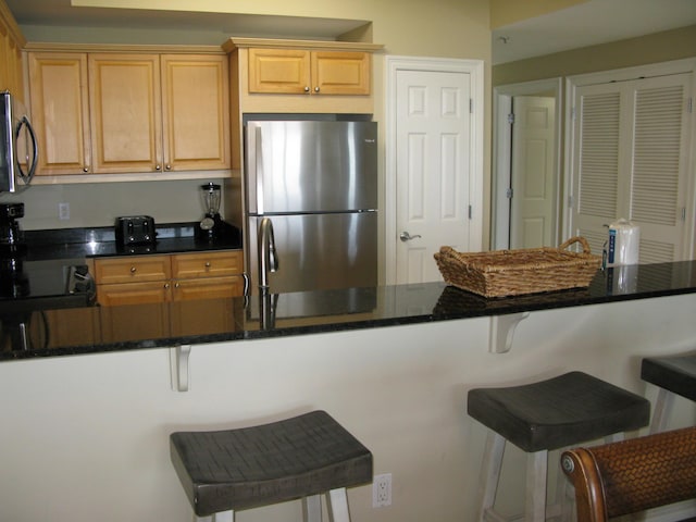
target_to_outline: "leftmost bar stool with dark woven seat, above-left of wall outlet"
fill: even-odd
[[[170,435],[172,462],[196,520],[301,498],[304,520],[348,522],[346,488],[372,482],[372,453],[325,411],[270,424]],[[214,518],[213,518],[214,517]]]

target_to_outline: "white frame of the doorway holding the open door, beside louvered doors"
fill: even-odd
[[[549,92],[556,98],[554,170],[556,172],[556,211],[554,216],[554,237],[558,240],[561,226],[561,185],[563,171],[562,154],[562,105],[563,78],[537,79],[519,84],[499,85],[493,89],[493,179],[490,187],[490,246],[493,249],[510,247],[510,204],[507,189],[510,187],[512,127],[508,114],[512,111],[512,98]]]

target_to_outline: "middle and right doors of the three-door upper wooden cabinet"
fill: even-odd
[[[224,57],[88,58],[95,173],[229,169]]]

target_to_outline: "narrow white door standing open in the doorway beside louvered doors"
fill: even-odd
[[[556,99],[513,98],[510,248],[556,246]]]

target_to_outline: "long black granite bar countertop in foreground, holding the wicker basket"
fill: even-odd
[[[12,345],[14,323],[2,319],[0,360],[428,323],[695,291],[696,261],[684,261],[598,270],[587,288],[495,299],[425,283],[133,307],[47,308],[30,318],[37,340],[27,349]]]

